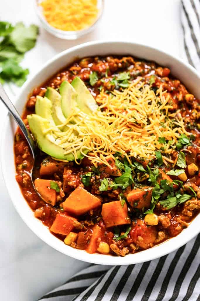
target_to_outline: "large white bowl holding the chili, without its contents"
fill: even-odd
[[[200,76],[193,67],[184,63],[180,59],[166,54],[163,51],[140,44],[129,42],[89,42],[75,46],[56,55],[49,60],[31,79],[28,79],[28,81],[21,88],[21,92],[16,99],[17,110],[19,113],[22,113],[30,92],[35,87],[46,81],[49,76],[59,71],[67,64],[70,64],[75,58],[109,54],[130,54],[135,57],[156,61],[161,66],[169,67],[172,74],[177,79],[180,79],[191,93],[200,98]],[[200,215],[196,216],[190,226],[187,229],[184,229],[177,237],[173,237],[151,249],[147,249],[136,254],[128,254],[125,257],[115,257],[97,253],[88,254],[84,250],[76,250],[66,246],[63,241],[52,235],[49,232],[49,229],[45,227],[40,220],[34,217],[34,213],[22,196],[19,185],[15,179],[15,164],[13,154],[13,139],[15,131],[16,123],[10,116],[8,116],[1,141],[1,165],[5,184],[11,200],[19,215],[22,217],[28,227],[43,241],[61,253],[79,260],[97,264],[129,265],[133,263],[149,261],[151,259],[166,255],[186,244],[190,239],[199,233]]]

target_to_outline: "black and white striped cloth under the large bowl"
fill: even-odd
[[[153,3],[152,3],[153,5]],[[183,58],[200,71],[200,0],[181,1]],[[41,301],[200,301],[200,234],[161,258],[126,266],[91,265]]]

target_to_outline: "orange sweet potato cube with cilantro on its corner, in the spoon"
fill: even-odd
[[[46,203],[55,206],[56,204],[56,191],[55,189],[51,188],[50,182],[55,182],[51,180],[43,180],[43,179],[36,179],[34,181],[35,188],[43,198]]]

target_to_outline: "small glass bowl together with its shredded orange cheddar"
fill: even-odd
[[[52,35],[75,40],[91,32],[103,14],[104,0],[36,0],[42,26]]]

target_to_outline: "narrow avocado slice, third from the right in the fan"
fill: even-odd
[[[45,96],[52,102],[52,117],[56,126],[59,126],[66,121],[61,110],[61,95],[55,89],[48,87]],[[68,127],[63,126],[60,129],[65,132]]]

